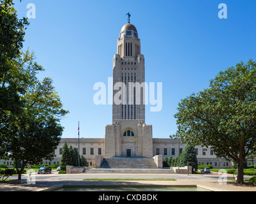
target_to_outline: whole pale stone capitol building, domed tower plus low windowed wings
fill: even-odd
[[[145,94],[142,85],[145,82],[145,58],[140,50],[136,27],[130,23],[123,25],[117,39],[117,54],[113,58],[113,86],[117,82],[123,85],[121,99],[117,98],[121,103],[112,105],[112,124],[105,126],[105,138],[80,138],[80,145],[78,138],[62,138],[54,152],[56,157],[52,161],[44,161],[45,163],[60,163],[64,141],[77,149],[80,147],[79,153],[86,157],[88,168],[100,168],[103,159],[115,157],[144,157],[156,162],[157,168],[162,168],[162,159],[165,156],[176,157],[182,152],[186,144],[178,144],[178,140],[153,138],[152,125],[145,123],[145,105],[136,103],[136,100],[143,101]],[[139,89],[134,87],[131,91],[128,90],[130,82],[138,82],[137,84],[142,86]],[[143,91],[138,93],[140,88]],[[113,87],[113,101],[118,92],[119,89]],[[217,158],[213,150],[204,150],[200,146],[195,149],[199,164],[212,164],[213,168],[231,167],[229,161]],[[11,161],[4,163],[9,165]]]

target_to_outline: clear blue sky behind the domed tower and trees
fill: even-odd
[[[219,71],[256,59],[256,1],[253,0],[15,0],[19,17],[27,4],[36,6],[29,19],[24,49],[45,68],[40,77],[54,80],[64,109],[63,138],[104,138],[112,124],[112,106],[94,105],[96,82],[112,77],[117,38],[131,13],[145,57],[146,82],[163,83],[163,106],[150,112],[153,138],[169,138],[177,125],[177,104],[209,86]],[[227,18],[220,19],[220,3]]]

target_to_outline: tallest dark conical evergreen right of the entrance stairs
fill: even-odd
[[[181,157],[181,166],[187,165],[197,170],[197,155],[195,153],[195,147],[192,145],[186,145]]]

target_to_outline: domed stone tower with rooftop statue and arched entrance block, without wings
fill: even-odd
[[[137,29],[123,25],[113,59],[112,124],[105,127],[105,158],[153,157],[152,126],[145,124],[145,62]]]

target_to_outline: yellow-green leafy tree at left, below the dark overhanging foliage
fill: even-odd
[[[42,159],[53,157],[63,132],[60,119],[68,113],[52,80],[38,79],[40,71],[43,68],[34,61],[34,54],[27,51],[13,60],[8,72],[13,83],[24,91],[19,93],[22,101],[19,113],[4,111],[0,149],[1,157],[22,161],[21,168],[16,165],[19,179],[28,163],[41,163]]]

